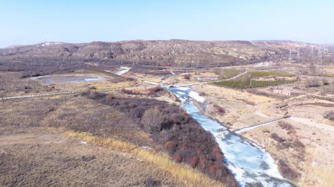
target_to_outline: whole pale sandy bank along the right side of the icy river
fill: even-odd
[[[214,85],[195,86],[194,91],[205,91],[203,97],[207,110],[204,113],[226,124],[231,131],[248,129],[254,124],[280,118],[288,112],[288,115],[292,115],[291,119],[250,128],[240,135],[268,151],[281,174],[293,181],[294,185],[333,186],[328,174],[320,172],[320,168],[324,168],[327,173],[334,174],[332,126],[324,128],[325,124],[319,125],[324,121],[323,113],[332,108],[330,102],[308,98],[307,95],[280,100]],[[257,92],[264,92],[264,89]],[[286,123],[289,129],[285,127]]]

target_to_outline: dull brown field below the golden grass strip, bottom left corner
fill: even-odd
[[[2,133],[2,187],[186,186],[139,156],[84,144],[62,133],[43,128]]]

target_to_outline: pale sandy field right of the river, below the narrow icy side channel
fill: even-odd
[[[334,141],[331,138],[334,128],[324,128],[312,123],[312,120],[307,123],[298,118],[287,119],[285,122],[292,127],[287,130],[273,123],[243,132],[243,136],[257,142],[271,152],[274,158],[286,163],[290,169],[285,168],[285,176],[291,178],[297,186],[333,186],[333,180],[328,176],[334,173]],[[273,133],[281,139],[273,139]],[[302,143],[301,146],[294,143],[297,140]],[[319,172],[320,168],[326,172]]]

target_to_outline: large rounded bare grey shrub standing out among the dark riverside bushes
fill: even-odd
[[[163,113],[157,107],[147,109],[142,117],[144,128],[150,133],[160,131],[162,120]]]

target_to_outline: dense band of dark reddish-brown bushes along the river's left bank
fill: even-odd
[[[146,98],[96,98],[133,118],[144,131],[151,133],[156,142],[164,145],[175,160],[198,168],[211,178],[230,183],[232,187],[237,186],[210,132],[205,131],[180,107]],[[215,172],[210,172],[213,165]]]

